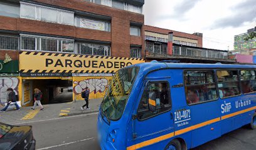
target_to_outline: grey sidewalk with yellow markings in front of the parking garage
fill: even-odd
[[[46,104],[43,105],[45,110],[40,111],[37,106],[35,111],[31,111],[31,107],[22,107],[20,111],[16,109],[8,109],[4,113],[0,113],[0,123],[17,124],[27,121],[41,121],[46,119],[59,118],[61,116],[72,116],[76,114],[87,114],[99,111],[102,99],[91,99],[89,101],[90,109],[81,110],[81,106],[85,104],[84,100],[77,100],[70,103]],[[0,106],[0,109],[3,109]]]

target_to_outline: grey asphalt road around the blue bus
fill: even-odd
[[[18,125],[33,126],[36,149],[100,150],[97,143],[97,113],[80,114]],[[240,128],[193,150],[255,150],[256,130]]]

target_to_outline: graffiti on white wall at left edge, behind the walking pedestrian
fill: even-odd
[[[18,78],[0,78],[0,100],[2,103],[7,101],[7,92],[8,88],[13,88],[15,93],[18,93]]]

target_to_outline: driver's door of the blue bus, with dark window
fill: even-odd
[[[171,93],[168,79],[147,80],[134,120],[133,139],[141,143],[149,139],[174,134],[171,113]],[[153,143],[151,143],[153,144]]]

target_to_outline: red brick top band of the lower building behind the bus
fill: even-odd
[[[173,30],[169,30],[169,29],[162,29],[162,28],[154,27],[154,26],[146,26],[146,25],[145,25],[145,31],[157,32],[157,33],[161,33],[161,34],[168,34],[168,32],[173,32],[173,36],[184,37],[184,38],[188,38],[188,39],[196,39],[198,41],[198,47],[203,47],[203,37],[196,36],[193,34],[173,31]]]

